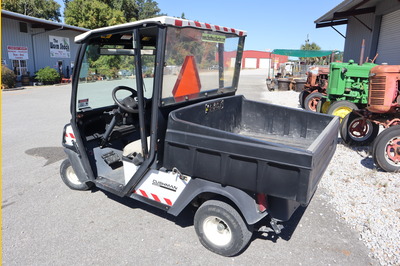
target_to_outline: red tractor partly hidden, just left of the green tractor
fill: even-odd
[[[301,108],[317,111],[317,104],[321,97],[326,95],[328,85],[329,66],[312,66],[307,72],[307,81],[304,90],[300,92],[299,103]]]

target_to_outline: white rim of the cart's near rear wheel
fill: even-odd
[[[232,232],[228,224],[216,216],[210,216],[204,220],[203,231],[207,239],[217,246],[225,246],[232,240]]]

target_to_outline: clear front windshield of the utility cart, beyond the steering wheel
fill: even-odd
[[[79,71],[76,98],[77,111],[114,105],[112,90],[117,86],[136,88],[135,55],[132,33],[102,36],[86,46]],[[143,91],[146,98],[153,94],[154,50],[142,51]],[[129,96],[122,90],[118,99]]]

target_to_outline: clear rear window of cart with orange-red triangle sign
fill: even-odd
[[[168,28],[163,104],[233,91],[239,37],[194,28]]]

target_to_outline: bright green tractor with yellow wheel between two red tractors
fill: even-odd
[[[358,65],[354,60],[348,63],[331,63],[327,95],[319,103],[319,111],[344,118],[353,109],[365,107],[368,103],[368,78],[373,63]]]

